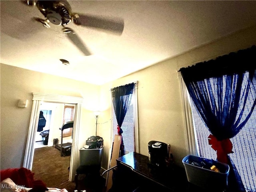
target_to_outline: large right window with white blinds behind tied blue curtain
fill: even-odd
[[[248,78],[248,73],[246,74]],[[246,80],[246,78],[245,78]],[[212,82],[214,83],[214,82]],[[255,87],[251,87],[252,89]],[[188,95],[188,94],[187,94]],[[253,103],[255,100],[255,91],[251,91],[248,95],[249,102]],[[190,100],[191,113],[194,127],[194,137],[196,140],[196,147],[198,156],[216,160],[216,151],[208,144],[208,136],[210,132],[207,126],[198,113],[194,102]],[[244,109],[248,110],[248,109]],[[242,182],[247,192],[256,192],[256,109],[245,126],[240,132],[231,138],[234,153],[229,154],[233,163],[235,164]]]

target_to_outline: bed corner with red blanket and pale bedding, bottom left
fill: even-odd
[[[42,180],[34,180],[34,173],[26,168],[8,168],[0,171],[1,192],[68,192],[50,188]]]

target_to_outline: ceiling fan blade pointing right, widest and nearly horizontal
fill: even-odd
[[[86,27],[92,27],[121,35],[124,30],[124,20],[106,19],[98,16],[75,14],[74,23]]]

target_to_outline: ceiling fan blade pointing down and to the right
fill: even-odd
[[[80,37],[70,28],[63,29],[64,34],[68,36],[68,38],[72,41],[72,43],[83,52],[85,56],[92,55],[88,48],[84,45]]]

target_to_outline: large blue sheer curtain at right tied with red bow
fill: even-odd
[[[241,178],[228,156],[233,138],[244,127],[256,105],[256,46],[181,68],[182,78],[199,114],[210,131],[209,143],[217,160],[230,165],[230,191],[244,192]],[[251,101],[251,100],[250,100]],[[247,110],[244,110],[247,108]]]

